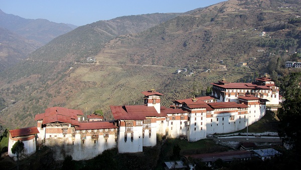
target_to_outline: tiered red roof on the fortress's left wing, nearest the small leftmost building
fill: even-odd
[[[45,109],[45,113],[37,114],[35,120],[43,119],[43,124],[58,121],[78,125],[78,115],[83,115],[83,112],[64,107],[50,107]]]

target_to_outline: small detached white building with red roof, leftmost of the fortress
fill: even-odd
[[[23,159],[36,152],[36,134],[39,133],[37,127],[26,127],[9,130],[9,156],[17,160],[17,155],[12,152],[13,145],[18,141],[24,143],[24,149],[19,154],[19,159]]]

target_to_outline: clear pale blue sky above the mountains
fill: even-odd
[[[0,0],[5,13],[84,25],[118,16],[186,12],[225,0]]]

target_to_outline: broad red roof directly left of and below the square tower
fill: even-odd
[[[110,105],[114,119],[143,120],[147,116],[160,116],[154,106]]]

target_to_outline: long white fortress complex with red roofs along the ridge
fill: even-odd
[[[141,152],[143,146],[157,144],[157,135],[197,141],[243,129],[265,114],[266,104],[279,103],[278,87],[268,77],[255,83],[223,79],[212,85],[212,96],[174,100],[170,107],[161,105],[162,93],[143,91],[143,105],[111,105],[114,119],[110,121],[93,114],[83,121],[81,110],[47,108],[35,116],[37,127],[10,130],[9,155],[16,156],[10,150],[18,139],[25,143],[26,154],[36,151],[36,144],[44,144],[56,159],[66,155],[90,159],[114,147],[120,153]]]

